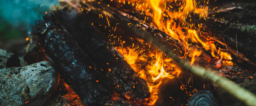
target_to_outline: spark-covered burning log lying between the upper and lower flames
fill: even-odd
[[[84,15],[80,17],[80,19],[92,23],[92,25],[99,28],[99,30],[107,29],[110,32],[110,30],[115,30],[115,26],[118,26],[129,32],[133,32],[134,30],[131,30],[130,28],[136,26],[136,29],[144,30],[145,32],[150,33],[151,37],[160,40],[160,42],[164,42],[166,46],[176,49],[175,51],[177,55],[184,55],[185,48],[181,42],[170,37],[161,30],[158,30],[156,27],[144,23],[140,19],[136,19],[133,16],[104,3],[97,4],[96,2],[89,2],[88,4],[82,4],[82,7],[84,8]],[[99,18],[99,15],[102,16]],[[105,35],[108,35],[108,33]],[[142,38],[140,35],[134,36]]]

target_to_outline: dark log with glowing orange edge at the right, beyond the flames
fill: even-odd
[[[234,61],[256,66],[256,57],[254,55],[256,44],[253,42],[256,39],[250,34],[240,31],[239,27],[242,29],[244,27],[243,24],[218,22],[215,21],[215,18],[198,20],[198,15],[193,15],[193,17],[196,17],[192,19],[196,24],[203,23],[204,31],[201,34],[202,37],[215,41],[221,48],[225,48],[232,53],[235,56]]]

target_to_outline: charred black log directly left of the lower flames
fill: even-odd
[[[82,14],[65,19],[68,11],[55,12],[56,19],[72,34],[81,49],[88,54],[92,61],[102,70],[109,82],[119,94],[131,99],[144,99],[150,96],[146,80],[131,68],[124,57],[108,44],[108,38],[99,30],[88,24]]]

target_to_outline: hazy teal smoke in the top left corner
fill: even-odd
[[[59,4],[58,0],[0,0],[0,20],[30,33],[36,20],[42,19],[56,4]]]

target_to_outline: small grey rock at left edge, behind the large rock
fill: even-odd
[[[7,68],[6,62],[8,58],[11,57],[12,55],[13,53],[4,49],[0,49],[0,69]]]

